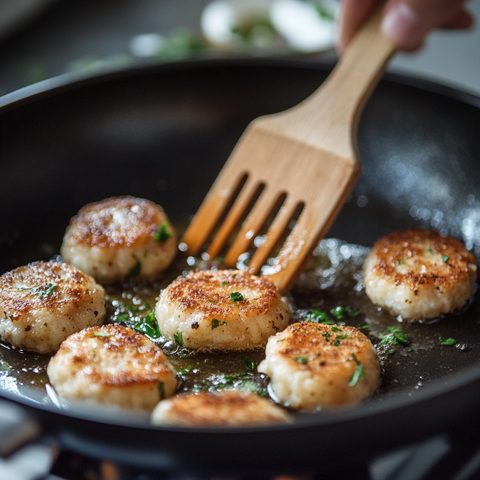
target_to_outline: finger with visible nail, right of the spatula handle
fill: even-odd
[[[430,30],[455,24],[463,3],[464,0],[389,0],[382,32],[398,47],[415,50]]]

